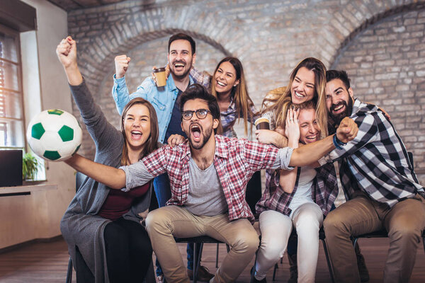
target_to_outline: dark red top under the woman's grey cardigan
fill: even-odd
[[[120,218],[130,210],[132,202],[137,197],[145,195],[147,190],[149,190],[149,186],[150,182],[140,187],[135,187],[128,192],[111,189],[105,202],[103,202],[101,210],[98,212],[98,216],[112,221]]]

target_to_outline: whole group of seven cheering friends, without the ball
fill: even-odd
[[[193,67],[189,35],[172,35],[168,49],[166,86],[149,77],[131,94],[130,58],[115,57],[118,131],[81,76],[76,42],[67,37],[57,46],[96,144],[94,161],[79,154],[65,161],[88,176],[61,221],[77,281],[140,282],[153,250],[159,281],[189,282],[193,248],[186,269],[174,237],[207,235],[230,250],[214,275],[200,267],[204,282],[234,282],[254,257],[251,282],[266,282],[290,246],[291,280],[314,282],[321,226],[336,282],[363,279],[351,236],[380,229],[390,238],[384,281],[409,281],[425,228],[424,187],[388,117],[354,98],[345,71],[306,58],[260,112],[239,59],[222,59],[210,76]],[[270,129],[257,129],[257,141],[237,139],[235,122],[243,120],[248,134],[261,115]],[[260,240],[245,195],[261,169]],[[159,208],[147,213],[153,191]],[[297,243],[288,243],[293,227]]]

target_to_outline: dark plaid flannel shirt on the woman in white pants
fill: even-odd
[[[312,200],[319,205],[324,215],[331,210],[332,204],[338,195],[338,183],[334,164],[327,163],[324,166],[315,168],[317,174],[312,183]],[[290,202],[297,191],[298,179],[300,178],[300,168],[297,168],[297,180],[293,192],[284,192],[279,185],[279,170],[266,170],[266,190],[256,204],[256,212],[265,210],[276,210],[288,215],[292,210],[289,208]]]

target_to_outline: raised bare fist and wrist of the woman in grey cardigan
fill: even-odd
[[[67,74],[71,86],[79,86],[83,82],[83,76],[77,64],[77,44],[72,37],[64,38],[56,47],[56,54]]]

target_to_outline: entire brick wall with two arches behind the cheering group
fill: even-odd
[[[77,37],[79,42],[79,63],[82,72],[91,91],[100,97],[98,101],[111,121],[115,121],[117,117],[113,112],[114,105],[110,94],[115,55],[134,54],[130,67],[131,75],[129,74],[131,78],[128,78],[129,82],[131,80],[130,90],[134,90],[153,64],[164,62],[162,53],[166,52],[164,50],[167,38],[173,33],[183,31],[192,35],[199,46],[203,45],[203,49],[197,52],[196,65],[200,69],[205,68],[211,72],[216,60],[225,54],[232,54],[241,59],[249,93],[256,105],[261,104],[263,95],[268,90],[285,86],[290,70],[305,57],[322,59],[327,67],[339,67],[342,64],[346,68],[354,64],[363,66],[363,69],[356,69],[355,74],[350,71],[359,97],[360,93],[365,91],[376,93],[377,98],[385,96],[388,98],[385,104],[382,97],[379,97],[380,100],[375,97],[371,99],[370,96],[365,98],[372,103],[382,101],[391,114],[392,107],[399,103],[399,95],[404,97],[403,103],[409,101],[409,105],[417,108],[414,110],[415,120],[412,121],[400,121],[404,117],[402,110],[392,116],[408,149],[414,151],[416,168],[425,175],[421,151],[424,147],[419,146],[424,142],[424,127],[420,123],[424,113],[419,109],[423,98],[414,101],[420,91],[424,92],[423,83],[421,84],[424,71],[420,66],[424,64],[421,60],[424,60],[425,56],[424,51],[419,50],[421,44],[424,45],[424,36],[419,34],[424,25],[425,1],[152,0],[142,3],[125,1],[68,14],[69,33]],[[417,11],[416,16],[404,19],[405,16],[414,14],[414,11]],[[392,37],[383,30],[375,30],[381,24],[387,24],[386,28]],[[405,25],[404,30],[402,25]],[[395,26],[399,28],[394,29]],[[412,30],[414,26],[419,30]],[[382,29],[385,30],[385,27]],[[395,39],[396,36],[399,36],[399,39]],[[357,41],[359,46],[361,45],[357,47],[361,48],[358,50],[355,47]],[[385,42],[387,45],[384,46]],[[372,47],[374,43],[379,47]],[[388,50],[382,54],[371,55],[364,53],[364,46],[370,52],[385,47]],[[407,50],[407,46],[411,49]],[[354,50],[351,50],[351,47]],[[397,47],[399,50],[395,51]],[[387,66],[385,64],[390,64],[388,62],[391,57],[385,59],[379,56],[390,52],[397,53],[396,56],[401,54],[402,57],[394,58],[394,65]],[[358,61],[344,62],[344,59],[339,57],[341,54],[351,54],[350,56]],[[373,56],[375,63],[368,61],[370,56]],[[375,56],[380,59],[375,59]],[[410,62],[416,62],[415,67],[409,65]],[[402,71],[387,71],[387,68],[391,67],[399,67]],[[412,69],[403,71],[403,68]],[[353,69],[355,68],[351,68]],[[382,81],[382,84],[357,86],[358,83],[366,82],[360,79],[361,76],[366,76],[365,72],[373,72],[375,79]],[[405,77],[402,77],[404,73]],[[391,78],[396,76],[395,74],[399,76],[399,80],[407,81],[397,82],[397,86],[391,85],[394,80]],[[385,79],[385,76],[390,78]],[[408,79],[412,81],[409,83]],[[416,89],[413,89],[414,86]],[[386,88],[390,87],[392,91],[386,91]],[[397,97],[394,90],[397,91]],[[406,96],[404,93],[407,93]],[[390,101],[394,102],[391,104]],[[412,108],[408,109],[412,111]],[[85,136],[84,142],[81,153],[92,156],[90,138]]]

